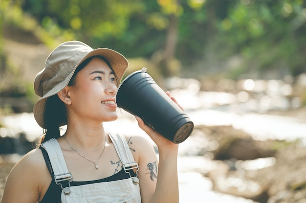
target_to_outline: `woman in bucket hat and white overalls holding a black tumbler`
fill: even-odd
[[[123,55],[79,41],[52,51],[34,81],[42,145],[13,167],[1,203],[178,203],[178,145],[136,117],[157,160],[144,137],[103,127],[117,119],[115,94],[128,66]]]

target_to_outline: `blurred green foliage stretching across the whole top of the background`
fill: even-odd
[[[306,71],[304,0],[1,0],[0,11],[1,27],[30,31],[50,48],[75,39],[156,61],[175,17],[174,56],[185,72],[219,64],[234,78]],[[241,62],[228,69],[233,55]]]

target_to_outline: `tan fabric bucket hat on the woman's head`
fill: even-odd
[[[45,128],[44,111],[48,97],[63,90],[69,83],[76,68],[87,58],[103,56],[117,75],[117,86],[129,67],[128,60],[120,53],[108,49],[92,49],[80,41],[67,41],[55,48],[47,57],[44,69],[34,80],[34,91],[42,98],[33,107],[34,118],[38,125]]]

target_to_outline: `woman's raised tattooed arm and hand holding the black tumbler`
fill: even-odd
[[[171,96],[170,92],[166,93],[179,106],[175,98]],[[180,108],[183,110],[182,107]],[[141,153],[139,159],[139,180],[142,203],[178,203],[178,145],[145,125],[141,118],[136,116],[136,120],[138,121],[139,127],[143,129],[157,145],[159,154],[158,163],[156,156],[153,155],[154,152],[152,151],[152,146],[150,147],[148,144],[142,144],[142,149],[144,151]],[[146,171],[143,171],[144,167],[147,168]],[[150,176],[148,174],[150,174]]]

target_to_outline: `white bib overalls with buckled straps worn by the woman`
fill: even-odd
[[[137,169],[128,143],[123,135],[109,133],[118,156],[126,173],[129,169]],[[141,203],[139,180],[131,177],[124,180],[94,183],[87,185],[70,186],[72,175],[68,171],[62,149],[56,139],[50,139],[42,144],[47,151],[55,182],[62,187],[62,203]],[[129,173],[130,174],[130,173]],[[131,174],[130,174],[131,176]],[[61,182],[69,182],[68,186],[62,186]]]

